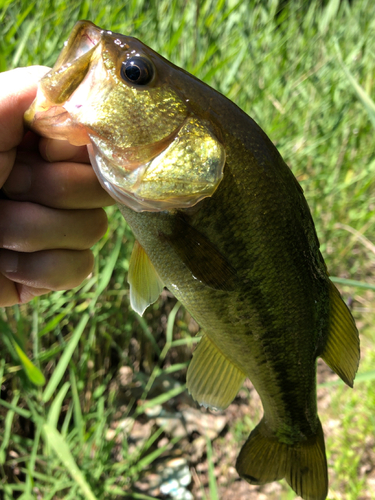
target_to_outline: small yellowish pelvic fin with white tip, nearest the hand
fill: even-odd
[[[158,299],[164,286],[148,255],[137,240],[130,257],[128,283],[130,305],[140,316],[146,307]]]

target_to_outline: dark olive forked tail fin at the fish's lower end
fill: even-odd
[[[242,447],[236,469],[250,484],[266,484],[285,478],[304,500],[325,500],[328,473],[320,421],[314,436],[288,445],[272,435],[263,418]]]

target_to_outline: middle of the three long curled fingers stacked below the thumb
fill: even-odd
[[[107,230],[103,209],[56,210],[42,205],[0,200],[0,248],[17,252],[84,250]]]

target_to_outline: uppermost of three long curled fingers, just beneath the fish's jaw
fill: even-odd
[[[90,165],[48,163],[32,153],[18,154],[4,190],[11,199],[53,208],[97,208],[115,203]]]

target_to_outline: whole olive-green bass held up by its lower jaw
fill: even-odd
[[[303,190],[265,132],[141,41],[90,21],[74,26],[25,123],[87,145],[136,238],[133,309],[142,315],[167,287],[200,325],[192,397],[225,409],[245,378],[259,393],[263,417],[237,458],[240,477],[285,478],[304,500],[324,500],[317,358],[353,387],[358,330]]]

